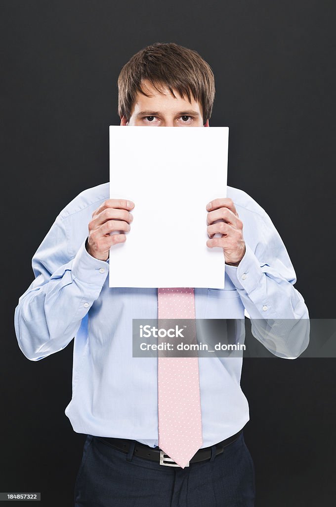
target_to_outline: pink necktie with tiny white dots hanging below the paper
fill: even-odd
[[[158,288],[157,298],[158,319],[195,319],[193,288]],[[184,468],[202,445],[198,357],[158,354],[158,430],[159,448]]]

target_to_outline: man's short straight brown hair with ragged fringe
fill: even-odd
[[[118,115],[129,121],[138,92],[148,80],[158,92],[162,86],[179,92],[202,106],[203,124],[211,117],[215,98],[215,78],[211,67],[196,52],[175,43],[155,43],[132,56],[118,78]]]

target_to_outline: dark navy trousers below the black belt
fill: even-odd
[[[253,507],[255,469],[238,440],[215,457],[163,466],[88,435],[75,482],[75,507]]]

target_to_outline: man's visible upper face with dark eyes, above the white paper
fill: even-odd
[[[137,93],[136,100],[131,111],[129,121],[123,116],[120,125],[149,126],[149,127],[202,127],[202,108],[199,102],[191,97],[182,98],[174,90],[173,97],[167,88],[162,87],[162,93],[158,92],[148,81],[145,81],[142,89],[150,95],[146,97]],[[208,127],[206,120],[204,127]]]

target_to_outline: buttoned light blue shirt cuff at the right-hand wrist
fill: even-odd
[[[244,257],[238,266],[225,265],[225,272],[237,289],[245,291],[247,294],[253,292],[259,286],[259,281],[263,276],[260,263],[255,253],[245,243],[246,250]]]

